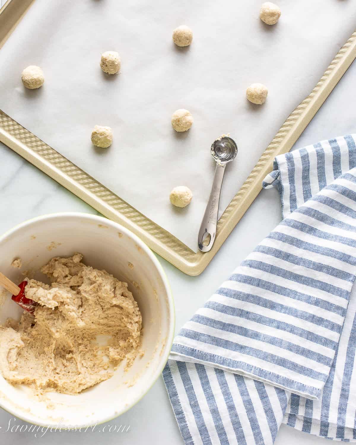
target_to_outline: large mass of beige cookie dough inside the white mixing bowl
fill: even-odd
[[[34,317],[24,312],[0,326],[0,370],[9,383],[76,394],[141,352],[142,317],[127,284],[81,259],[51,259],[41,269],[50,285],[26,279],[26,297],[39,303]]]

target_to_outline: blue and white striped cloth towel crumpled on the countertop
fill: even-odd
[[[281,423],[356,441],[355,136],[278,156],[283,221],[174,339],[186,445],[272,444]]]

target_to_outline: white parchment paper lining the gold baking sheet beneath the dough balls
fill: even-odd
[[[36,0],[1,50],[0,108],[197,251],[214,173],[211,142],[230,132],[239,145],[221,213],[354,28],[350,2],[279,4],[280,22],[268,27],[255,0]],[[171,32],[183,23],[194,41],[178,49]],[[119,76],[106,77],[98,65],[109,49],[121,55]],[[37,91],[20,81],[32,64],[46,77]],[[269,88],[263,107],[245,100],[254,81]],[[178,108],[194,116],[184,134],[170,127]],[[90,143],[97,124],[113,128],[109,150]],[[193,190],[186,209],[170,206],[176,185]]]

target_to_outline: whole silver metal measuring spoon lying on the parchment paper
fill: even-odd
[[[206,205],[198,235],[198,247],[202,252],[209,252],[214,244],[216,224],[218,223],[219,199],[225,167],[228,162],[235,159],[237,145],[233,139],[223,136],[212,143],[210,152],[216,161],[216,168],[210,198]]]

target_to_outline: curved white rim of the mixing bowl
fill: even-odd
[[[134,405],[136,405],[142,399],[142,397],[144,397],[147,394],[147,392],[150,391],[152,386],[158,380],[158,377],[162,374],[162,371],[163,371],[164,367],[166,366],[166,362],[167,362],[169,354],[170,354],[170,349],[173,344],[174,330],[175,330],[175,308],[174,308],[173,294],[172,294],[172,290],[170,287],[170,283],[168,281],[168,277],[167,277],[166,272],[164,271],[161,263],[158,261],[158,259],[154,255],[154,252],[151,251],[151,249],[142,241],[142,239],[140,239],[132,231],[130,231],[129,229],[127,229],[124,226],[121,226],[121,224],[116,223],[115,221],[112,221],[111,219],[105,218],[104,216],[95,215],[95,214],[91,214],[91,213],[85,213],[85,212],[54,212],[54,213],[36,216],[35,218],[30,218],[30,219],[25,220],[22,223],[16,224],[16,226],[12,227],[11,229],[5,231],[2,235],[0,235],[0,246],[1,246],[1,243],[3,243],[3,241],[8,236],[16,233],[16,231],[19,231],[19,230],[23,229],[24,227],[28,227],[32,223],[36,223],[38,221],[42,221],[42,220],[46,220],[46,219],[61,218],[61,217],[85,218],[85,219],[89,219],[92,221],[99,221],[101,223],[103,221],[105,221],[105,225],[112,226],[115,229],[124,233],[125,235],[129,236],[131,239],[133,239],[138,244],[138,246],[141,247],[146,252],[146,254],[150,257],[152,263],[154,263],[154,266],[156,267],[156,269],[162,279],[162,282],[164,284],[164,289],[166,291],[167,301],[168,301],[168,309],[169,309],[169,313],[170,313],[170,324],[169,324],[169,329],[168,329],[168,333],[167,333],[166,347],[165,347],[164,352],[161,355],[159,365],[157,366],[156,371],[153,373],[150,384],[145,386],[144,389],[138,394],[138,396],[136,396],[136,398],[134,398],[131,403],[127,404],[127,406],[125,406],[123,409],[121,409],[121,411],[119,411],[119,412],[116,411],[115,414],[111,417],[107,417],[107,416],[102,417],[102,418],[98,419],[97,422],[95,422],[95,424],[94,423],[89,423],[89,424],[85,423],[85,424],[77,424],[77,425],[66,425],[65,423],[61,422],[62,429],[68,429],[68,428],[79,429],[79,428],[90,427],[93,425],[101,425],[105,422],[115,419],[116,417],[121,416],[126,411],[131,409]],[[50,420],[46,423],[41,422],[41,421],[36,421],[34,415],[28,416],[28,415],[26,415],[26,413],[24,413],[23,410],[16,409],[16,406],[11,407],[11,406],[7,406],[7,405],[8,404],[6,403],[6,401],[1,400],[1,398],[0,398],[0,408],[4,409],[5,411],[12,414],[13,416],[16,416],[18,419],[20,419],[22,421],[28,422],[32,425],[42,426],[42,427],[56,427],[58,425],[58,422],[50,421]],[[10,405],[10,402],[9,402],[9,405]],[[21,413],[20,415],[19,415],[19,411]]]

